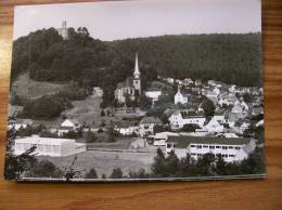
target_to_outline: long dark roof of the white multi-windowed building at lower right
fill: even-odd
[[[187,148],[189,144],[220,144],[246,145],[251,139],[244,137],[198,137],[198,136],[168,136],[167,142],[176,143],[176,147]]]

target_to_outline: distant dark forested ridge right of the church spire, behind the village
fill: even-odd
[[[260,34],[180,35],[113,41],[125,56],[140,61],[164,77],[215,79],[239,86],[261,86]]]

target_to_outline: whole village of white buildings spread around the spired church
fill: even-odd
[[[36,146],[37,156],[51,157],[54,162],[74,155],[88,160],[103,157],[102,174],[110,173],[104,166],[113,161],[124,167],[128,161],[130,169],[138,170],[140,165],[150,171],[157,148],[166,156],[174,152],[179,159],[189,154],[196,160],[211,153],[234,162],[264,144],[262,88],[158,77],[142,90],[136,54],[133,75],[118,83],[114,94],[117,106],[101,108],[103,90],[93,88],[89,97],[95,115],[87,114],[91,120],[67,110],[56,122],[17,118],[9,126],[22,133],[15,139],[14,153],[21,155]],[[26,134],[30,128],[33,132]],[[85,167],[97,168],[97,162],[88,166],[88,161]]]

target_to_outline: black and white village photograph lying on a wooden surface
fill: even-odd
[[[266,176],[260,0],[14,11],[5,180]]]

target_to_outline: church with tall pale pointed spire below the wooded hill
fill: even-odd
[[[115,90],[115,100],[118,103],[126,103],[127,97],[134,101],[137,95],[141,94],[141,74],[138,64],[138,53],[136,54],[136,66],[133,77],[128,77],[126,81],[119,82]]]

